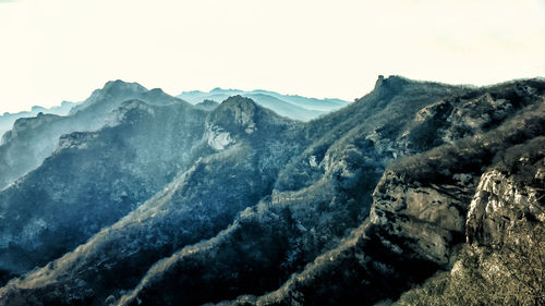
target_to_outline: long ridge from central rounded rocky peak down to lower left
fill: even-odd
[[[298,150],[283,147],[298,143],[299,123],[242,97],[226,100],[203,123],[207,126],[203,140],[217,152],[197,160],[140,208],[48,266],[56,270],[48,278],[63,280],[61,291],[71,292],[64,292],[70,298],[52,303],[99,305],[108,294],[136,285],[138,273],[149,265],[185,244],[216,235],[238,211],[270,193],[279,164]],[[51,290],[50,283],[44,285],[41,290]]]

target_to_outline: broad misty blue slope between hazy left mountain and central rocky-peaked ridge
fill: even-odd
[[[97,132],[61,136],[51,157],[0,193],[1,271],[20,274],[73,249],[195,160],[204,111],[129,100],[116,115]]]

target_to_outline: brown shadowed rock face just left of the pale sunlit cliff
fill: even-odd
[[[372,224],[388,236],[409,242],[412,253],[438,265],[448,264],[451,246],[463,237],[468,203],[475,188],[473,175],[457,179],[461,180],[452,184],[422,185],[386,172],[374,193]],[[383,243],[401,253],[387,237]]]

